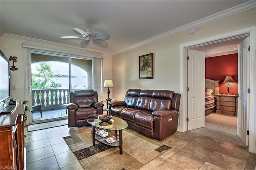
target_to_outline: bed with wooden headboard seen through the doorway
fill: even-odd
[[[216,111],[216,97],[219,94],[219,80],[205,79],[205,116]]]

